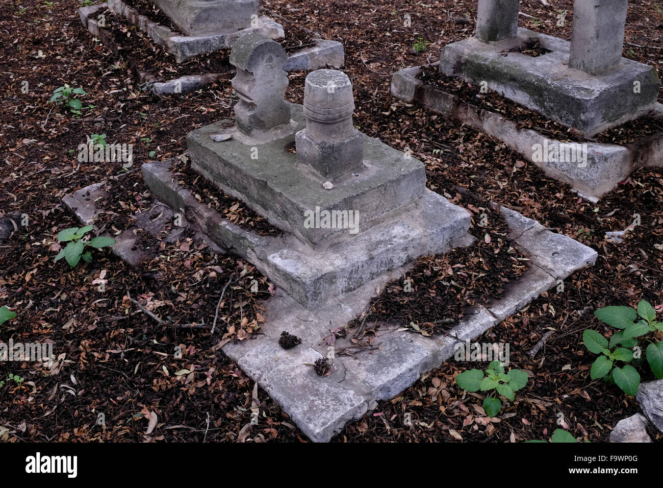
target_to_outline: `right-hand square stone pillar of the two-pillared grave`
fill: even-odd
[[[575,0],[571,68],[601,74],[619,65],[627,4],[628,0]]]

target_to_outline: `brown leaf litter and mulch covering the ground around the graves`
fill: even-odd
[[[521,17],[520,25],[569,39],[572,0],[549,2],[552,6],[544,7],[538,0],[522,0],[521,11],[531,17]],[[64,260],[53,262],[59,245],[56,234],[78,226],[62,197],[124,172],[119,163],[78,163],[76,148],[85,143],[86,135],[105,133],[108,142],[133,143],[137,168],[151,159],[183,155],[188,131],[231,116],[229,81],[187,96],[152,96],[140,90],[121,57],[93,41],[80,23],[77,2],[26,7],[17,0],[0,0],[0,4],[5,12],[0,19],[4,101],[0,210],[29,216],[27,226],[0,242],[0,306],[17,313],[17,319],[0,325],[0,339],[52,341],[56,355],[51,368],[0,363],[0,378],[9,373],[25,378],[21,386],[10,381],[0,388],[0,439],[306,440],[278,404],[218,350],[223,341],[251,340],[260,333],[263,302],[279,293],[251,264],[214,254],[191,236],[171,244],[157,238],[155,244],[163,244],[160,254],[139,268],[131,268],[107,250],[95,250],[93,262],[74,269]],[[475,0],[263,4],[293,25],[343,42],[345,72],[354,85],[355,123],[396,149],[409,147],[426,165],[431,189],[446,192],[450,200],[467,208],[485,207],[468,201],[457,188],[466,189],[482,202],[510,206],[599,252],[596,265],[568,278],[563,291],[543,293],[479,339],[509,343],[510,367],[530,373],[527,386],[496,418],[488,419],[481,410],[481,395],[466,394],[453,380],[458,372],[486,363],[449,361],[393,400],[379,402],[375,411],[335,440],[548,440],[560,413],[562,427],[577,439],[606,440],[611,428],[638,406],[615,386],[589,378],[594,355],[583,347],[581,333],[587,327],[609,333],[593,317],[596,308],[634,305],[639,299],[663,304],[663,171],[637,171],[600,203],[592,204],[505,145],[392,98],[392,72],[434,62],[444,44],[473,35]],[[629,2],[626,41],[630,44],[625,45],[625,56],[660,69],[661,50],[654,47],[663,46],[663,15],[654,7],[652,1]],[[557,17],[564,12],[566,23],[558,27]],[[406,14],[412,20],[410,27],[404,25]],[[423,52],[413,48],[420,38],[426,46]],[[162,61],[154,72],[179,73],[174,63],[166,68],[167,56],[139,53]],[[304,76],[290,74],[291,102],[302,102]],[[65,83],[87,93],[80,97],[80,116],[48,103],[52,92]],[[117,215],[105,216],[105,224],[117,233],[135,220],[137,212],[152,208],[139,171],[118,177],[114,185],[117,204],[109,208]],[[220,208],[228,204],[233,205],[219,201]],[[625,230],[638,221],[635,214],[639,225],[626,232],[623,242],[606,240],[605,232]],[[476,212],[473,218],[473,229],[479,232]],[[491,227],[491,232],[495,229]],[[491,242],[496,237],[493,234]],[[510,259],[512,253],[507,254]],[[515,264],[506,263],[509,272],[517,272]],[[479,260],[477,269],[481,266]],[[432,285],[440,293],[439,281],[413,278],[422,300],[430,300],[424,295]],[[99,291],[95,280],[107,280],[105,291]],[[251,291],[253,280],[257,293]],[[468,293],[469,299],[483,296],[478,287]],[[552,329],[552,336],[531,359],[528,351]],[[650,379],[647,370],[641,374],[643,380]],[[260,420],[252,426],[251,412],[256,409]],[[412,425],[404,422],[406,412]],[[105,416],[105,426],[96,424],[99,413]],[[653,432],[652,436],[661,438]]]

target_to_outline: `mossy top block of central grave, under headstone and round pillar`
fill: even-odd
[[[347,236],[345,228],[308,226],[305,216],[316,207],[360,212],[365,230],[424,195],[426,172],[421,161],[367,135],[362,135],[364,161],[358,176],[324,189],[324,180],[302,171],[297,156],[287,149],[293,145],[294,132],[304,127],[302,106],[292,104],[291,108],[292,129],[278,139],[247,139],[237,129],[224,128],[222,122],[190,132],[192,167],[225,193],[243,198],[274,225],[312,244]],[[232,133],[233,139],[223,143],[210,139],[210,134],[223,131]]]

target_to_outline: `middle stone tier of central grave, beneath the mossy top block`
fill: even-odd
[[[306,307],[356,289],[418,256],[446,252],[470,224],[463,208],[426,190],[379,224],[325,246],[308,245],[293,234],[260,236],[199,202],[173,181],[170,165],[170,161],[143,165],[143,177],[152,194],[180,209],[219,246],[251,261]]]

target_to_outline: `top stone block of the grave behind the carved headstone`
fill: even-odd
[[[152,0],[188,36],[237,31],[258,17],[258,0]]]

